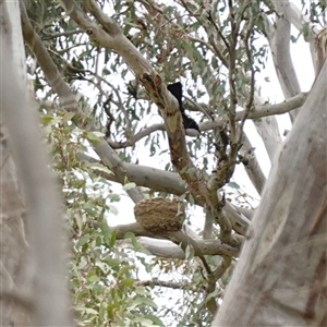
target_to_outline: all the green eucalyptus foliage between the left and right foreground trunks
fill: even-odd
[[[94,156],[94,144],[106,134],[124,162],[138,164],[140,154],[144,156],[146,152],[148,157],[143,162],[155,156],[162,170],[175,171],[167,156],[168,142],[162,129],[133,142],[140,132],[162,121],[148,93],[123,58],[89,40],[57,1],[25,2],[33,27],[57,70],[78,94],[78,114],[61,110],[48,77],[33,59],[34,53],[27,50],[28,72],[65,204],[76,320],[81,326],[165,326],[171,322],[175,326],[208,326],[213,314],[206,304],[211,298],[221,301],[233,265],[220,284],[215,281],[216,289],[208,292],[204,287],[206,274],[221,263],[218,256],[199,259],[194,257],[192,247],[186,247],[185,261],[162,259],[150,256],[134,235],[117,240],[117,231],[107,223],[110,215],[117,215],[114,203],[121,199],[119,191],[105,177],[113,172],[104,161],[80,159],[81,153]],[[75,2],[86,11],[84,1]],[[227,195],[226,199],[242,207],[257,205],[232,177],[235,165],[244,164],[239,157],[242,129],[253,108],[254,90],[259,89],[255,76],[265,70],[269,55],[265,20],[276,16],[271,3],[258,0],[211,1],[208,7],[205,1],[98,0],[97,3],[152,63],[165,84],[182,81],[187,114],[198,122],[208,122],[208,116],[214,120],[228,117],[229,122],[227,119],[219,129],[207,129],[201,138],[187,140],[187,152],[206,179],[210,170],[228,158],[230,167],[218,187],[223,201]],[[322,20],[326,12],[324,2],[312,2],[310,9],[304,4],[312,22]],[[304,37],[308,36],[306,27],[302,31]],[[245,112],[239,130],[230,108],[233,113],[241,109]],[[203,114],[204,111],[209,114]],[[193,178],[197,170],[192,169],[185,167],[180,174]],[[136,186],[128,180],[124,183],[126,192]],[[169,192],[147,190],[147,194],[168,196]],[[181,198],[189,199],[189,208],[194,205],[192,194],[185,193]],[[213,234],[219,232],[214,226]],[[201,270],[203,262],[209,267],[205,272]],[[144,283],[141,278],[144,274],[153,283]],[[175,279],[179,290],[168,294],[162,291],[157,282],[162,277]],[[159,306],[162,294],[174,294],[178,299],[171,301],[172,305]]]

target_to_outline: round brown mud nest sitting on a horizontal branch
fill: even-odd
[[[184,221],[185,206],[178,198],[146,198],[135,205],[134,215],[149,231],[178,231]]]

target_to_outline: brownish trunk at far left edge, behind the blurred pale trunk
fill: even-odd
[[[28,308],[28,301],[24,294],[31,292],[32,269],[28,265],[31,253],[26,214],[8,135],[2,124],[0,135],[0,325],[27,326],[29,318],[25,310]]]

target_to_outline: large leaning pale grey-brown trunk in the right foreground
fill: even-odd
[[[213,326],[327,325],[327,63],[275,159]]]

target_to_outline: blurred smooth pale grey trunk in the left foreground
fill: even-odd
[[[15,280],[1,284],[1,305],[8,301],[16,307],[24,306],[29,312],[29,318],[34,326],[73,326],[73,319],[69,313],[68,284],[64,265],[64,233],[63,220],[61,220],[60,201],[56,190],[55,178],[49,170],[49,160],[46,149],[41,144],[41,133],[38,126],[36,112],[32,110],[27,95],[25,51],[21,33],[20,2],[0,1],[0,108],[3,124],[8,129],[9,142],[17,175],[11,169],[11,179],[22,185],[26,211],[22,213],[22,201],[17,192],[17,199],[12,199],[10,207],[9,194],[5,193],[5,203],[1,208],[7,208],[7,216],[1,215],[7,230],[5,239],[14,246],[11,253],[3,251],[1,276],[12,278],[21,274],[7,271],[12,267],[21,268],[24,264],[26,270],[33,272],[24,275],[24,282],[29,282],[29,289],[19,289]],[[9,158],[11,159],[11,158]],[[5,164],[5,162],[3,162]],[[3,167],[3,166],[2,166]],[[10,169],[10,168],[9,168]],[[8,181],[10,179],[8,178]],[[7,181],[7,186],[8,186]],[[5,187],[4,191],[11,190]],[[3,213],[1,213],[3,214]],[[14,230],[19,227],[20,229]],[[23,222],[23,223],[22,223]],[[27,230],[25,235],[26,222]],[[7,234],[7,232],[9,232]],[[11,239],[11,238],[14,238]],[[27,245],[28,239],[28,245]],[[17,249],[20,244],[22,249]],[[9,246],[9,244],[5,244]],[[21,263],[21,253],[28,247],[32,254],[28,263]],[[25,271],[26,271],[25,270]],[[22,307],[21,307],[22,308]],[[12,312],[12,316],[5,317],[3,326],[26,326],[28,319],[19,320],[21,313]]]

